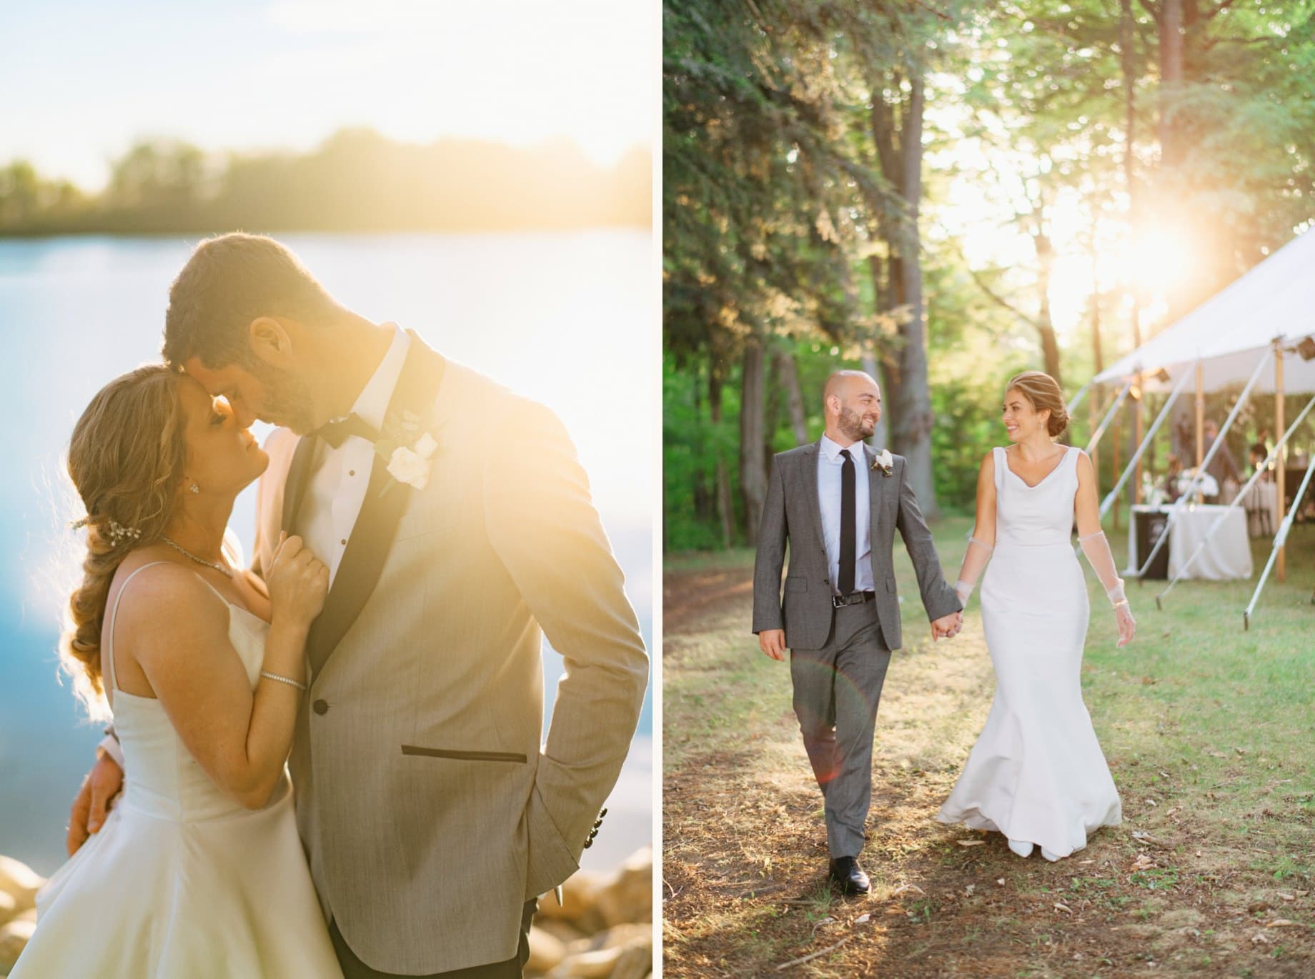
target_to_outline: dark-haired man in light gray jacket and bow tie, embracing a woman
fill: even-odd
[[[254,568],[280,531],[330,568],[289,767],[343,972],[519,976],[535,899],[593,840],[648,675],[565,430],[256,235],[197,247],[164,357],[239,424],[283,426]],[[565,675],[540,750],[543,633]],[[121,778],[103,760],[89,783],[104,766]]]

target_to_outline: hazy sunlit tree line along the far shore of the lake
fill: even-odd
[[[648,226],[651,212],[647,151],[608,168],[567,139],[421,146],[347,129],[310,152],[221,155],[154,139],[117,159],[99,193],[24,160],[0,167],[0,235]]]

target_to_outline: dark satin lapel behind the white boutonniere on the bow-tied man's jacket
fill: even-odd
[[[410,330],[406,332],[410,336],[410,347],[406,350],[406,361],[402,364],[393,397],[388,402],[387,417],[405,410],[423,418],[434,405],[446,361],[426,347],[414,332]],[[384,569],[393,534],[397,532],[397,522],[413,491],[405,484],[389,486],[391,478],[388,464],[376,455],[370,470],[366,499],[360,505],[360,515],[351,528],[347,548],[338,564],[338,573],[325,599],[325,610],[312,624],[310,635],[306,637],[312,678],[320,674],[325,661],[356,622]]]

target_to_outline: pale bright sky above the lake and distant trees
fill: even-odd
[[[99,189],[138,138],[309,150],[343,126],[408,142],[652,148],[647,0],[0,0],[0,163]]]

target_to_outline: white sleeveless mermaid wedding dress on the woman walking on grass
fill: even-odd
[[[1073,551],[1078,449],[1036,486],[994,449],[995,551],[982,578],[995,699],[936,819],[990,829],[1047,859],[1086,846],[1122,820],[1119,794],[1082,703],[1090,607]]]

